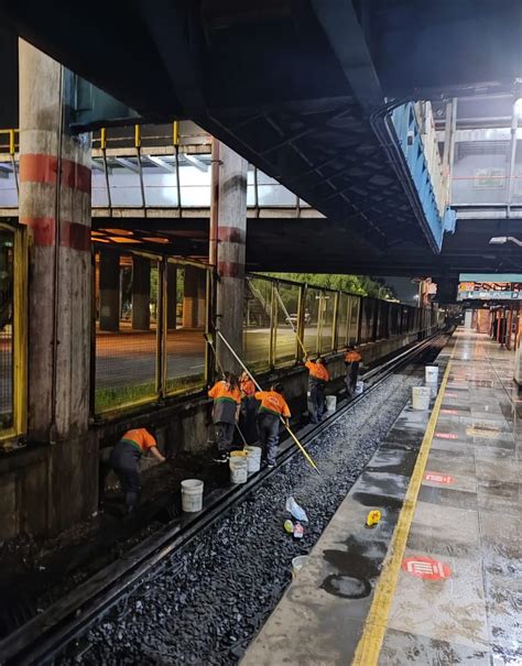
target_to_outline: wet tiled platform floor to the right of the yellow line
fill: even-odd
[[[483,335],[463,330],[454,339],[404,554],[418,563],[418,571],[401,571],[383,666],[522,663],[521,401],[512,379],[514,354]],[[424,558],[450,574],[424,576]]]

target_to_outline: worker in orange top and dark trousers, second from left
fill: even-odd
[[[241,391],[238,378],[232,372],[224,372],[224,379],[216,382],[208,392],[214,400],[213,422],[216,430],[217,462],[225,462],[232,450],[233,428],[239,418]]]

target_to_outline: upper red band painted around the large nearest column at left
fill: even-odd
[[[58,160],[55,155],[23,154],[20,155],[20,182],[46,183],[56,185]],[[90,168],[62,160],[62,185],[86,194],[90,193]]]

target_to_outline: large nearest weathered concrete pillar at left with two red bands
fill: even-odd
[[[29,234],[30,440],[54,441],[48,531],[96,506],[97,451],[88,433],[91,331],[90,134],[67,131],[72,76],[20,42],[20,222]],[[28,506],[26,511],[32,511]]]

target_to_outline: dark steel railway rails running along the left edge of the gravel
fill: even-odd
[[[411,347],[401,354],[382,363],[365,375],[366,391],[349,402],[341,403],[338,411],[318,426],[307,429],[302,437],[305,446],[331,427],[348,411],[379,386],[390,374],[415,359],[433,354],[434,348],[445,337],[437,334]],[[281,446],[278,467],[262,470],[243,485],[214,492],[206,498],[204,510],[196,516],[182,516],[153,534],[127,553],[119,560],[100,570],[76,590],[52,604],[40,615],[14,631],[0,642],[1,664],[48,664],[75,638],[101,618],[112,605],[126,598],[151,569],[186,546],[192,538],[207,529],[232,506],[242,502],[252,491],[278,473],[294,456],[298,455],[291,440]],[[311,473],[314,473],[311,471]]]

